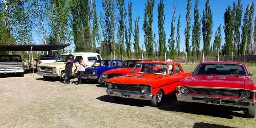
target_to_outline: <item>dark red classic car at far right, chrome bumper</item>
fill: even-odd
[[[240,107],[249,118],[256,116],[256,86],[239,62],[205,62],[191,77],[178,82],[177,100]]]

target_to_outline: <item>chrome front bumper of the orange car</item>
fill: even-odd
[[[127,92],[127,91],[117,91],[117,90],[111,90],[111,89],[107,89],[106,92],[107,92],[107,95],[109,95],[109,96],[122,97],[122,94],[124,94],[124,95],[130,95],[130,98],[139,99],[139,100],[151,100],[152,97],[153,97],[153,94],[143,94],[143,93],[138,93],[138,92]]]

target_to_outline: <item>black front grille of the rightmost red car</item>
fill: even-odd
[[[206,95],[224,95],[224,96],[240,96],[240,90],[228,89],[204,89],[189,87],[189,93],[206,94]]]

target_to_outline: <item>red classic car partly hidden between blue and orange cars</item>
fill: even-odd
[[[124,60],[118,69],[105,71],[101,75],[101,83],[106,82],[107,79],[110,79],[116,76],[130,74],[137,63],[149,62],[149,61],[153,61],[153,60],[149,60],[149,59]]]

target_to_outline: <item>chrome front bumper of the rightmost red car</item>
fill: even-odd
[[[207,99],[218,99],[219,105],[223,106],[233,106],[233,107],[242,107],[242,108],[252,108],[256,107],[256,100],[239,100],[232,98],[220,98],[220,97],[209,97],[209,96],[198,96],[198,95],[187,95],[187,94],[176,94],[178,101],[184,102],[196,102],[196,103],[205,103],[205,98]]]

